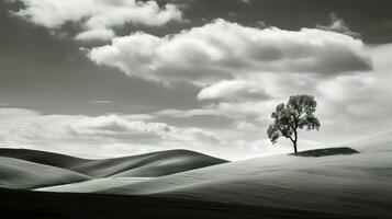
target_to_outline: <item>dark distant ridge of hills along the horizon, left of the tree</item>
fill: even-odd
[[[227,162],[189,150],[168,150],[113,159],[87,160],[46,151],[0,149],[0,157],[67,169],[91,177],[156,177]]]

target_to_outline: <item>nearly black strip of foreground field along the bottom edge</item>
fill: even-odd
[[[168,219],[270,219],[331,218],[350,219],[346,215],[270,207],[217,204],[160,197],[104,194],[44,193],[0,189],[0,212],[8,218],[168,218]],[[368,217],[367,217],[368,218]]]

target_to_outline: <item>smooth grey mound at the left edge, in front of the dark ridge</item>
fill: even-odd
[[[69,170],[0,157],[0,187],[36,188],[90,180]]]

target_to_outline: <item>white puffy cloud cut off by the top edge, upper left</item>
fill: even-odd
[[[109,39],[115,26],[126,23],[148,26],[180,21],[182,13],[175,4],[159,7],[156,1],[137,0],[11,0],[24,8],[13,14],[51,30],[59,30],[67,22],[78,23],[85,30],[78,41]]]

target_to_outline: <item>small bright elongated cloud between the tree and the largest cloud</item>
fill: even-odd
[[[294,93],[313,93],[320,81],[335,77],[312,73],[259,72],[250,77],[223,80],[200,90],[198,99],[222,102],[283,100]]]

